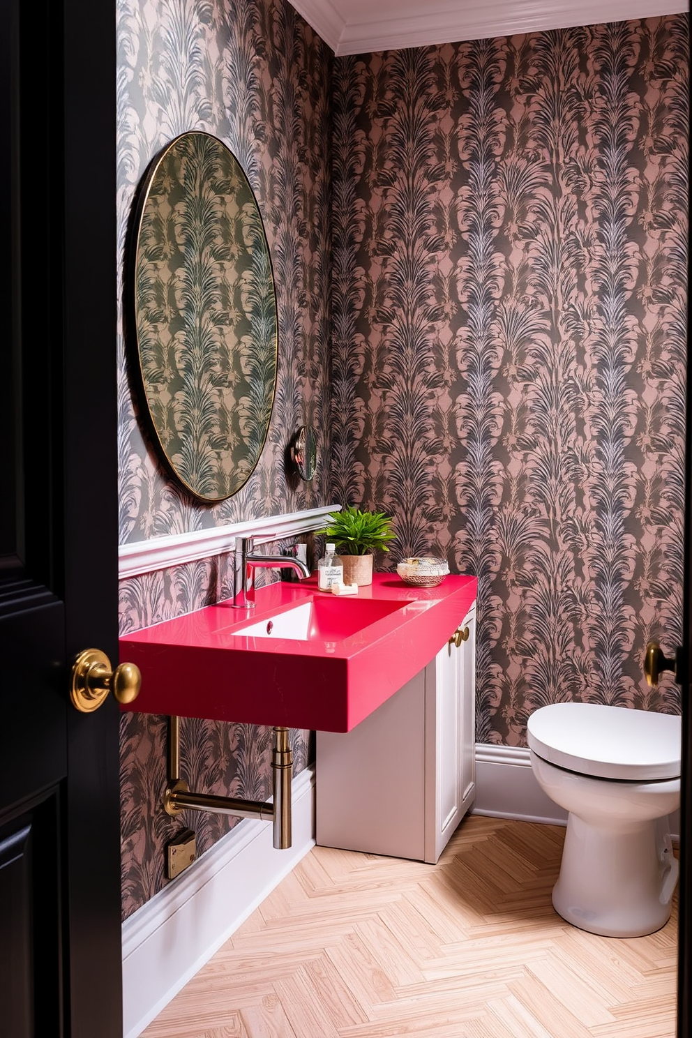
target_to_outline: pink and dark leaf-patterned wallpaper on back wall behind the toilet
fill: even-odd
[[[680,710],[688,26],[334,65],[332,489],[479,577],[482,742]]]

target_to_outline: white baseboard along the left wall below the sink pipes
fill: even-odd
[[[137,1038],[314,846],[314,770],[293,784],[293,847],[244,819],[122,924],[124,1038]]]

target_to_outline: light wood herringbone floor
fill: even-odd
[[[472,815],[437,866],[315,847],[143,1038],[673,1038],[675,909],[569,926],[563,836]]]

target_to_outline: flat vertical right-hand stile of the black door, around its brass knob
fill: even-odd
[[[55,0],[44,2],[52,8]],[[62,0],[58,6],[64,97],[65,643],[68,660],[96,648],[115,666],[117,18],[111,2]],[[85,565],[88,559],[91,565]],[[119,707],[112,696],[95,713],[67,711],[72,1031],[102,1038],[122,1034],[118,733]],[[78,824],[71,824],[73,818]]]

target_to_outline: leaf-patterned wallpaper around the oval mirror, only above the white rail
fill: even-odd
[[[284,0],[118,0],[120,257],[149,160],[186,130],[214,134],[239,159],[257,198],[281,344],[257,468],[238,494],[200,507],[167,479],[144,442],[120,342],[121,544],[325,503],[327,466],[315,482],[292,488],[283,452],[293,432],[310,424],[328,457],[330,63],[331,52]]]

